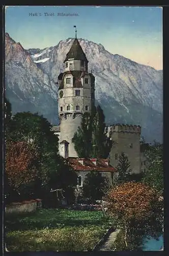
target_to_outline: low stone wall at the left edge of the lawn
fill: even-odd
[[[42,206],[41,199],[23,201],[23,202],[14,202],[10,205],[6,205],[5,212],[7,214],[13,213],[22,213],[22,212],[33,212],[37,208]]]

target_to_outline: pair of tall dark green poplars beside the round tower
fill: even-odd
[[[112,141],[106,136],[105,117],[100,106],[92,115],[83,114],[81,125],[74,134],[74,148],[78,157],[107,158]]]

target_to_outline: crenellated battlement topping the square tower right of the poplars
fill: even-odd
[[[140,125],[133,125],[133,124],[112,124],[109,126],[106,126],[107,128],[107,133],[112,134],[112,133],[141,133],[141,126]]]

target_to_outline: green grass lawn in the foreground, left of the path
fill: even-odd
[[[6,215],[7,248],[10,251],[92,250],[112,225],[112,220],[101,211],[39,209],[32,214],[9,214]]]

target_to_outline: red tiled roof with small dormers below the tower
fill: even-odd
[[[82,158],[83,159],[83,158]],[[68,158],[68,163],[76,171],[82,170],[83,172],[90,172],[91,170],[98,170],[99,172],[116,172],[116,168],[112,167],[110,164],[105,164],[106,159],[95,159],[96,165],[92,162],[91,159],[84,159],[84,165],[81,164],[78,160],[81,158]],[[94,159],[93,159],[94,160]]]

